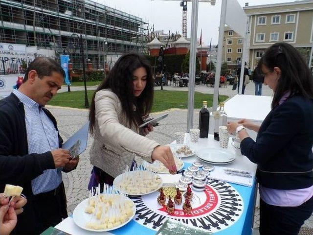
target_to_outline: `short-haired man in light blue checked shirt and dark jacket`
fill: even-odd
[[[19,185],[27,197],[15,234],[40,234],[67,217],[61,171],[76,168],[45,104],[61,88],[65,72],[53,59],[29,64],[19,90],[0,101],[0,191]]]

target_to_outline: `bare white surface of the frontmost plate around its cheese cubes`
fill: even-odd
[[[131,199],[129,199],[127,197],[125,197],[125,198],[127,200],[130,200],[131,202],[133,202]],[[86,228],[86,224],[88,222],[90,222],[92,219],[97,220],[95,218],[95,215],[85,212],[86,207],[89,206],[88,200],[89,200],[89,198],[87,198],[84,201],[82,201],[81,203],[79,203],[73,211],[73,220],[74,220],[75,224],[84,230],[88,230],[88,231],[92,231],[92,232],[105,232],[105,231],[111,231],[114,229],[118,229],[118,228],[124,226],[125,224],[127,224],[128,222],[130,222],[134,218],[135,213],[136,213],[136,207],[134,205],[133,206],[133,215],[128,220],[126,220],[124,223],[122,223],[116,227],[113,227],[111,229],[101,229],[101,230],[88,229],[88,228]]]

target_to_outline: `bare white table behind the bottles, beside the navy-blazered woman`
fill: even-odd
[[[246,118],[255,124],[261,125],[271,110],[272,96],[237,94],[225,102],[224,110],[228,121],[238,121]],[[257,133],[247,130],[252,139]],[[210,116],[209,134],[214,133],[214,118]]]

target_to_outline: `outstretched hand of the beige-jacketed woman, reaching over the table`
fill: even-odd
[[[153,151],[151,158],[158,160],[165,165],[170,171],[177,171],[177,167],[174,161],[173,153],[169,146],[159,145]]]

